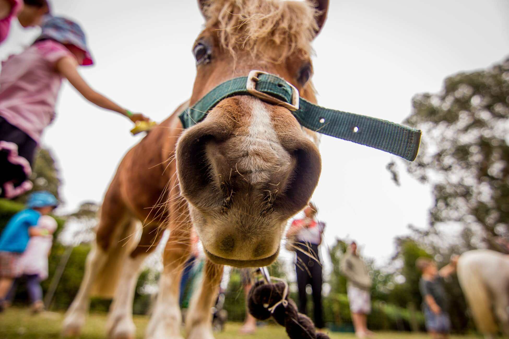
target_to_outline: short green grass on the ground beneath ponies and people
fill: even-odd
[[[0,314],[0,338],[2,339],[49,339],[59,338],[60,329],[64,315],[62,313],[44,312],[39,315],[33,316],[27,309],[19,309],[12,307],[6,312]],[[83,329],[81,339],[104,339],[104,324],[106,322],[105,314],[91,314],[87,319],[87,324]],[[145,327],[148,323],[148,317],[135,316],[134,323],[136,324],[137,338],[143,338]],[[237,339],[237,338],[270,338],[270,339],[284,339],[286,336],[285,330],[282,327],[267,325],[260,327],[256,334],[241,336],[238,330],[241,324],[228,323],[225,331],[216,333],[216,339]],[[354,339],[353,334],[345,333],[329,333],[331,339]],[[428,339],[429,336],[424,333],[412,334],[408,332],[383,332],[376,335],[376,339]],[[451,338],[473,339],[479,336],[451,336]]]

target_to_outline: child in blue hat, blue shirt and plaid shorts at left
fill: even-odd
[[[0,311],[3,301],[11,288],[14,279],[23,272],[21,256],[29,243],[30,237],[47,236],[48,230],[36,227],[42,215],[49,214],[58,200],[49,192],[33,193],[26,209],[11,218],[0,236]]]

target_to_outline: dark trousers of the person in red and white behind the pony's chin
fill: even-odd
[[[318,245],[316,244],[298,244],[302,251],[312,254],[313,257],[320,260],[318,256]],[[323,310],[322,310],[322,264],[320,261],[310,258],[306,253],[297,250],[297,262],[295,269],[297,272],[297,287],[299,289],[299,312],[306,314],[307,294],[306,286],[311,285],[313,290],[313,310],[315,327],[323,328]]]

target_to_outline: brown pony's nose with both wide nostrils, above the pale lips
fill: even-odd
[[[242,103],[233,98],[223,102],[224,106],[229,104],[229,109],[236,107],[236,102]],[[303,136],[298,122],[286,109],[281,108],[279,120],[285,118],[289,124],[274,127],[270,119],[256,120],[256,112],[251,114],[254,122],[229,119],[224,106],[216,106],[178,142],[182,195],[197,208],[228,209],[237,199],[252,204],[239,208],[256,210],[255,217],[267,211],[291,217],[307,204],[318,183],[321,158],[316,145]],[[246,107],[250,108],[244,103],[238,109]],[[257,133],[252,133],[253,129]]]

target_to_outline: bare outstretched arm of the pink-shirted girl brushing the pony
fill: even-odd
[[[60,74],[62,74],[64,77],[66,77],[71,85],[73,85],[74,88],[76,88],[76,90],[91,103],[96,104],[99,107],[109,109],[110,111],[119,112],[120,114],[127,116],[133,122],[149,120],[149,118],[145,117],[143,114],[130,115],[125,108],[120,107],[108,98],[97,93],[89,86],[89,84],[81,77],[81,75],[79,75],[77,67],[78,63],[76,59],[71,56],[65,56],[58,60],[55,64],[56,70],[59,71]]]

